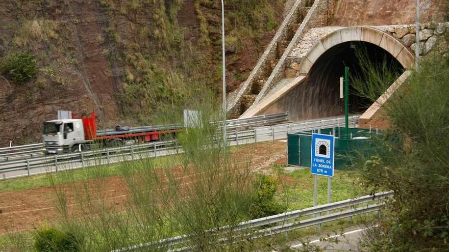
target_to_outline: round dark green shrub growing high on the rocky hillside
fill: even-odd
[[[36,76],[38,71],[34,56],[24,51],[7,54],[0,63],[0,69],[16,83],[29,81]]]

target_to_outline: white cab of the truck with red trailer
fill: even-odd
[[[46,153],[78,151],[86,142],[80,119],[52,120],[44,123],[42,139]]]

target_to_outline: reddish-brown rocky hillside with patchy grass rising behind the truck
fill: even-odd
[[[282,21],[285,0],[226,1],[227,81],[244,80]],[[289,1],[290,3],[291,1]],[[0,0],[0,58],[30,53],[24,83],[2,69],[0,147],[38,142],[58,109],[103,127],[144,124],[186,93],[220,90],[219,0]]]

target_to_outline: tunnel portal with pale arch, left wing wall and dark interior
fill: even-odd
[[[339,79],[344,67],[350,68],[350,76],[359,75],[362,81],[364,78],[361,66],[365,64],[360,63],[357,49],[366,54],[363,62],[369,61],[372,65],[386,62],[388,71],[397,71],[399,75],[414,66],[409,48],[384,31],[366,26],[345,27],[316,42],[302,58],[300,75],[253,104],[243,116],[288,111],[290,119],[297,121],[344,115],[344,100],[339,98]],[[387,83],[387,86],[392,84]],[[350,83],[351,114],[363,113],[372,103],[357,95]]]

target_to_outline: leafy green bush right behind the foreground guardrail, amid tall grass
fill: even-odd
[[[275,215],[282,212],[282,206],[275,199],[279,181],[266,175],[259,176],[253,181],[254,189],[250,215],[253,219]]]

